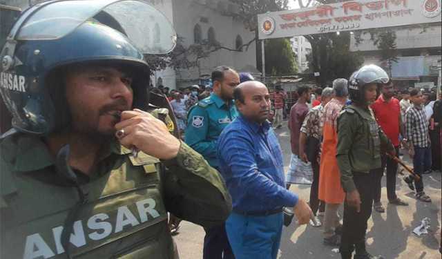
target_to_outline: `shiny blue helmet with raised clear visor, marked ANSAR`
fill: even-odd
[[[150,31],[153,37],[146,37]],[[131,70],[133,108],[146,108],[150,70],[144,54],[170,52],[175,41],[171,23],[144,1],[48,1],[32,6],[17,19],[0,54],[0,93],[12,113],[12,126],[38,135],[68,126],[61,71],[73,65]]]

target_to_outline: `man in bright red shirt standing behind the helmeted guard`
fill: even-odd
[[[385,84],[381,88],[381,95],[374,104],[372,109],[374,116],[381,126],[385,135],[390,139],[394,148],[396,148],[396,155],[399,152],[399,133],[405,136],[404,128],[401,119],[401,106],[398,99],[393,97],[394,86],[393,82]],[[378,212],[385,212],[385,208],[381,203],[381,180],[385,166],[387,166],[387,198],[390,204],[407,206],[407,202],[404,202],[396,196],[396,172],[398,164],[394,162],[390,157],[385,154],[382,155],[382,166],[378,170],[376,189],[374,190],[374,209]]]

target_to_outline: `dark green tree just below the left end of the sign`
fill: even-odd
[[[265,61],[265,70],[272,76],[294,75],[298,72],[289,39],[268,39],[265,42]]]

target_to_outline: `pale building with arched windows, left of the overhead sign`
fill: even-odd
[[[176,70],[177,87],[202,83],[216,66],[231,66],[240,72],[258,73],[256,70],[256,42],[248,48],[240,48],[254,39],[255,34],[236,19],[238,6],[222,0],[172,0],[173,24],[177,35],[183,37],[185,47],[191,44],[215,44],[230,50],[220,49],[206,58],[193,61],[190,69]],[[206,48],[206,47],[203,47]],[[205,52],[214,50],[206,48]],[[231,51],[239,50],[239,51]]]

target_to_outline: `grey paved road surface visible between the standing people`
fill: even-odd
[[[290,137],[287,124],[277,130],[284,164],[290,160]],[[407,155],[405,155],[405,160]],[[425,192],[432,198],[432,203],[418,202],[406,184],[397,181],[398,195],[410,204],[408,207],[387,205],[385,177],[383,178],[382,202],[385,213],[373,212],[367,230],[367,249],[373,254],[382,254],[385,259],[440,259],[439,242],[441,238],[441,173],[431,173],[424,177]],[[308,200],[309,187],[292,186],[291,191]],[[342,213],[341,213],[342,215]],[[412,233],[425,217],[430,218],[430,233],[417,237]],[[175,236],[180,258],[202,258],[204,230],[190,222],[182,222],[180,233]],[[295,223],[285,227],[282,233],[278,258],[280,259],[327,259],[340,258],[332,251],[333,247],[322,244],[322,229],[311,226],[298,227]]]

